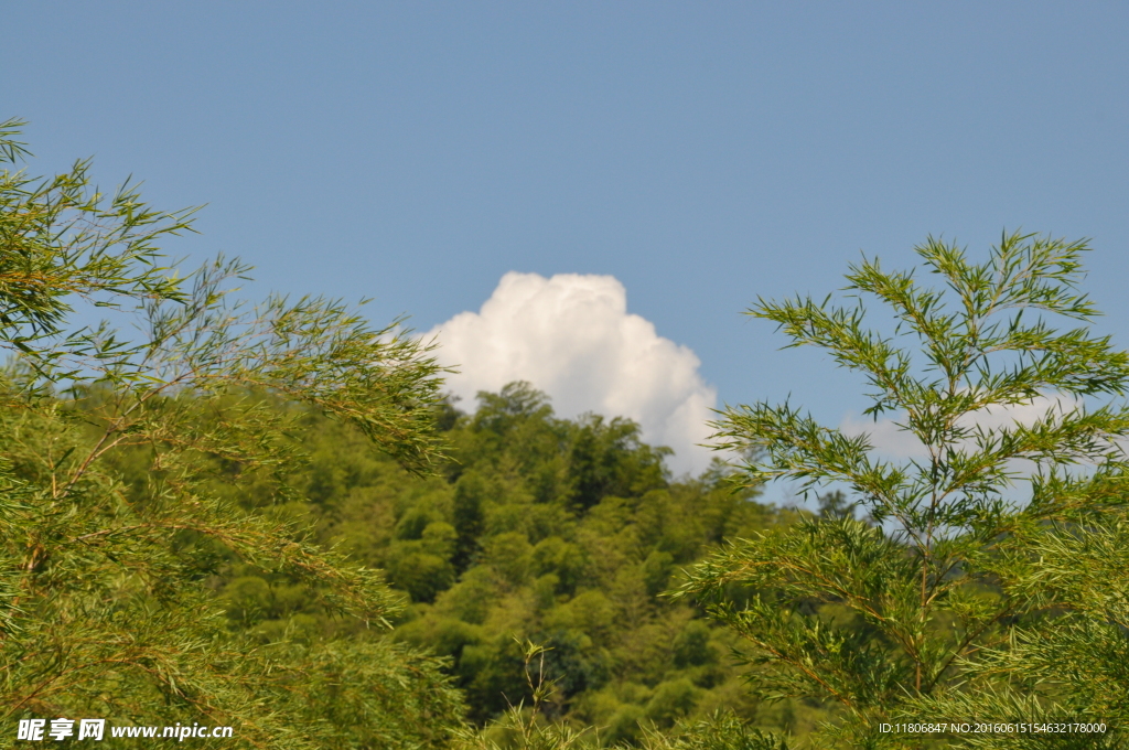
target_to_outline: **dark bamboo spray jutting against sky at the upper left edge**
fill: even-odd
[[[89,160],[53,178],[11,172],[27,156],[16,141],[25,123],[0,123],[0,347],[49,370],[68,355],[112,360],[120,345],[106,331],[59,337],[72,312],[70,300],[100,307],[132,306],[142,299],[183,300],[170,270],[160,265],[156,243],[191,230],[193,210],[168,213],[141,202],[126,183],[112,197],[90,190]],[[99,333],[102,335],[99,335]],[[62,360],[62,361],[60,361]],[[55,373],[56,377],[67,373]]]

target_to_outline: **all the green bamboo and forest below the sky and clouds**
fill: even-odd
[[[1084,242],[930,238],[938,286],[864,259],[848,299],[893,325],[761,299],[916,453],[756,402],[673,478],[527,383],[461,410],[401,321],[167,265],[191,212],[88,167],[0,173],[3,744],[1126,747],[1129,354],[1088,328]]]

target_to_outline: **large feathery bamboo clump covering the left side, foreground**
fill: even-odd
[[[0,125],[6,165],[26,154],[20,124]],[[440,742],[461,706],[439,662],[386,639],[310,640],[297,618],[255,639],[228,627],[215,595],[237,569],[244,618],[290,607],[256,574],[304,582],[320,611],[360,630],[396,611],[378,572],[282,512],[295,495],[285,470],[321,412],[428,471],[440,457],[428,347],[332,299],[233,302],[236,261],[177,277],[157,243],[189,230],[189,212],[157,211],[129,186],[105,197],[87,171],[0,172],[0,347],[14,357],[0,375],[6,725],[199,721],[234,725],[244,747]],[[75,304],[138,334],[75,326]]]

